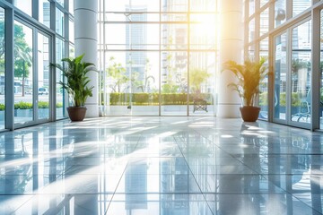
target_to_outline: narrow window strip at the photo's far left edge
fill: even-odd
[[[4,129],[4,8],[0,7],[0,129]]]

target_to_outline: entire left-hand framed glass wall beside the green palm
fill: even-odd
[[[0,5],[2,2],[0,1]],[[0,39],[2,40],[0,46],[0,130],[65,118],[63,107],[65,107],[66,94],[57,85],[63,77],[60,73],[55,75],[55,71],[52,72],[49,66],[50,63],[60,62],[62,57],[67,56],[68,47],[74,47],[74,34],[66,33],[66,30],[68,32],[73,32],[73,30],[65,29],[68,26],[74,29],[74,17],[68,13],[69,5],[63,2],[39,0],[34,2],[34,6],[32,1],[14,0],[6,3],[12,3],[13,9],[0,7]],[[53,11],[56,13],[51,13]],[[11,13],[14,22],[4,22]],[[65,23],[67,21],[69,23]],[[8,25],[8,30],[12,24],[12,36],[10,33],[5,34],[4,23]],[[57,46],[54,49],[55,41]],[[70,43],[70,46],[65,46],[65,43]],[[14,44],[13,59],[5,58],[7,53],[5,46],[10,47],[11,44]],[[54,50],[56,53],[53,52]],[[10,64],[6,64],[8,60],[9,62],[13,60],[13,72],[11,72]],[[5,79],[6,75],[11,76],[10,73],[13,73],[12,82],[10,78]],[[13,90],[6,91],[6,88]],[[51,93],[52,91],[57,91],[57,93]],[[5,104],[4,101],[6,101]],[[11,107],[13,107],[13,118],[5,117],[6,111],[9,111]],[[5,122],[5,119],[8,122]]]

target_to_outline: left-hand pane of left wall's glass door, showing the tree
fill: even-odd
[[[14,22],[14,123],[33,119],[32,30]]]

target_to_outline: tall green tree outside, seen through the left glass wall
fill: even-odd
[[[4,73],[4,22],[0,22],[0,73]],[[21,25],[14,25],[14,77],[22,79],[22,96],[24,96],[25,79],[31,69],[31,47],[25,40]]]

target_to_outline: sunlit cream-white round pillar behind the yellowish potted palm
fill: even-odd
[[[221,1],[220,65],[227,60],[241,63],[243,55],[243,2],[240,0]],[[222,66],[221,66],[222,67]],[[227,85],[236,82],[232,73],[223,71],[218,77],[217,116],[226,118],[240,117],[240,97]]]

